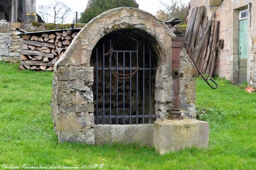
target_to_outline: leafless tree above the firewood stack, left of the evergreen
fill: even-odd
[[[38,13],[47,23],[49,17],[53,19],[54,23],[64,23],[71,12],[71,9],[66,4],[58,0],[54,0],[50,5],[40,5],[38,9]]]

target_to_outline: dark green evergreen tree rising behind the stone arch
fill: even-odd
[[[92,0],[86,10],[81,13],[79,22],[88,23],[105,11],[124,6],[139,8],[139,4],[136,0]]]

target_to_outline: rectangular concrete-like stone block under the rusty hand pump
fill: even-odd
[[[154,147],[165,154],[185,147],[206,148],[209,142],[209,124],[196,119],[168,120],[154,122]]]

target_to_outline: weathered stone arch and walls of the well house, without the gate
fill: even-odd
[[[155,111],[157,119],[171,107],[171,37],[175,35],[160,20],[137,8],[116,8],[90,21],[54,64],[52,118],[60,142],[98,143],[94,139],[93,67],[90,57],[98,41],[112,31],[134,29],[154,41],[157,55]],[[195,117],[195,68],[182,50],[180,107],[186,117]],[[97,136],[97,135],[96,135]]]

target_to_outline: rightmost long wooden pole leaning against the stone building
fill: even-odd
[[[217,41],[218,41],[218,32],[219,32],[219,27],[220,27],[220,21],[216,21],[215,23],[215,28],[214,28],[214,37],[213,37],[213,45],[212,45],[212,63],[210,66],[210,73],[209,76],[212,77],[214,67],[215,67],[215,61],[216,61],[216,53],[217,53]]]

